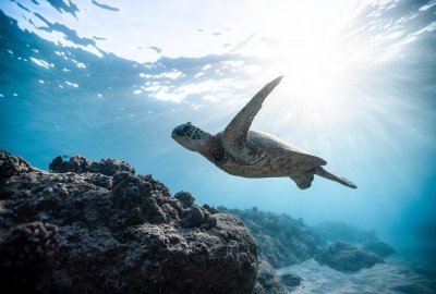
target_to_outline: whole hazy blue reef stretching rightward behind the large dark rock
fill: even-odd
[[[238,216],[245,223],[257,242],[259,260],[265,259],[263,262],[269,262],[276,269],[314,258],[320,266],[326,265],[341,272],[355,272],[383,264],[383,257],[395,254],[395,249],[379,241],[374,231],[360,230],[347,223],[324,222],[307,226],[302,219],[259,211],[256,207],[244,210],[218,209]],[[271,277],[267,272],[267,266],[259,262],[257,281],[265,281],[262,277]],[[293,281],[301,281],[296,274],[291,275]],[[290,278],[270,279],[271,289],[277,290],[271,293],[281,293],[276,281],[290,281]]]

